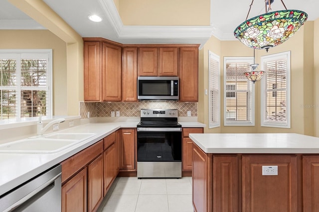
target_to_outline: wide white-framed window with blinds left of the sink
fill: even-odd
[[[0,119],[52,114],[52,50],[0,50]]]

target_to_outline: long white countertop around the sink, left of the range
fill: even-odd
[[[89,123],[58,132],[96,133],[80,143],[56,153],[0,153],[0,195],[103,139],[121,127],[136,127],[138,122]]]

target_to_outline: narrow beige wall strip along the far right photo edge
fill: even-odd
[[[319,18],[314,22],[314,135],[319,137]]]

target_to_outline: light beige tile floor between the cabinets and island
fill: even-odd
[[[120,177],[115,180],[98,212],[193,212],[191,193],[191,177]]]

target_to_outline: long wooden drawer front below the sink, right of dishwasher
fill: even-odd
[[[81,152],[71,156],[70,158],[64,160],[62,164],[62,183],[66,181],[69,177],[74,175],[88,163],[90,163],[94,158],[103,152],[103,142],[99,142],[89,146],[88,148],[82,150]]]

